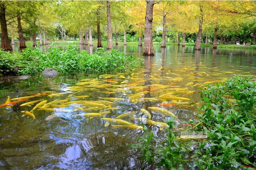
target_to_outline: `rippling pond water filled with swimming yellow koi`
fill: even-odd
[[[140,126],[148,122],[139,118],[151,117],[155,122],[146,124],[148,129],[159,141],[164,140],[165,127],[157,122],[168,120],[170,112],[178,117],[176,125],[197,120],[205,84],[221,82],[234,74],[256,75],[255,50],[206,47],[194,51],[193,46],[154,45],[155,56],[144,57],[143,48],[137,45],[117,48],[143,58],[143,68],[100,77],[81,73],[53,79],[34,76],[19,82],[0,79],[0,104],[7,96],[34,95],[22,103],[57,101],[36,108],[35,120],[22,117],[21,111],[30,111],[37,103],[31,107],[20,106],[21,102],[0,107],[0,169],[138,169],[140,155],[127,144],[137,143],[143,135]],[[107,119],[121,114],[121,120],[138,127],[119,126],[122,123]]]

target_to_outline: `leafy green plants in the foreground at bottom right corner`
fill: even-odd
[[[255,89],[256,82],[251,77],[236,76],[226,82],[207,85],[201,93],[205,103],[201,107],[203,114],[199,115],[201,120],[197,125],[183,129],[204,130],[207,139],[184,141],[178,138],[171,119],[167,122],[167,140],[156,144],[156,137],[147,133],[133,148],[141,151],[142,159],[149,163],[147,165],[155,163],[166,169],[183,166],[216,170],[255,168]],[[195,123],[191,120],[189,124]]]

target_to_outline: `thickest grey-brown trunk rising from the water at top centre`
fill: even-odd
[[[154,1],[147,0],[146,16],[145,16],[145,34],[144,34],[144,56],[154,56],[152,41],[152,21],[153,21]]]

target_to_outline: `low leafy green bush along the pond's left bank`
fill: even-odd
[[[110,51],[98,48],[92,55],[87,51],[79,51],[78,47],[69,45],[66,50],[50,47],[46,53],[39,48],[26,48],[21,54],[11,54],[1,51],[0,73],[12,68],[18,68],[21,75],[41,73],[51,67],[63,74],[77,72],[108,73],[136,69],[142,66],[140,58],[129,56],[112,49]]]

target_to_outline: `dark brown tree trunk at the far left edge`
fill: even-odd
[[[7,24],[5,19],[5,9],[4,4],[0,4],[0,22],[1,22],[1,48],[3,50],[11,51],[11,45],[7,32]]]

